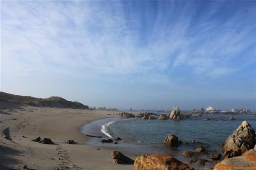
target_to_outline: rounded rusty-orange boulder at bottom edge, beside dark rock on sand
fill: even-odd
[[[134,162],[134,170],[194,170],[187,164],[169,155],[155,153],[138,156]]]

